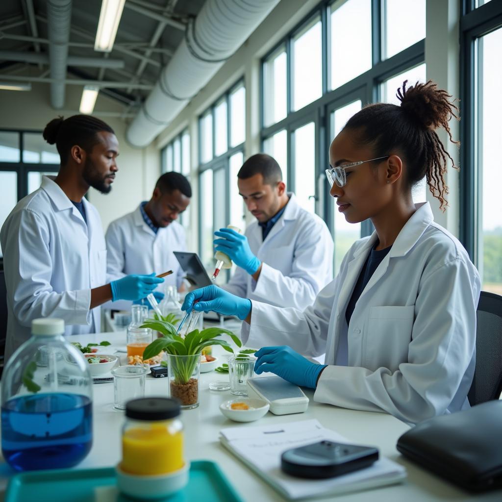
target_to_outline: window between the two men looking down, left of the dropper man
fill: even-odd
[[[243,163],[245,88],[241,81],[199,117],[199,255],[214,271],[213,232],[232,224],[243,229],[237,172]],[[220,274],[218,282],[228,280]]]

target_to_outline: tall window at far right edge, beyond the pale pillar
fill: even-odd
[[[467,5],[471,9],[461,20],[461,239],[479,270],[481,288],[502,295],[502,4],[476,6]]]

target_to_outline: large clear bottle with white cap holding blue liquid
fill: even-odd
[[[72,467],[92,446],[92,379],[62,319],[35,319],[2,376],[2,452],[18,471]]]

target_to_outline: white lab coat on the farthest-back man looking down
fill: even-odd
[[[177,222],[159,228],[155,233],[143,219],[140,206],[132,213],[112,221],[106,230],[107,274],[120,279],[130,274],[162,274],[172,270],[161,285],[176,285],[184,273],[173,251],[186,250],[185,229]],[[112,302],[112,308],[131,308],[131,302]]]

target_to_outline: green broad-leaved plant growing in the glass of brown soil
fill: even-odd
[[[164,351],[172,355],[182,355],[176,361],[171,361],[174,380],[177,384],[185,384],[190,380],[190,377],[200,361],[202,349],[210,345],[221,345],[227,352],[232,352],[228,342],[224,339],[217,339],[217,336],[222,334],[228,335],[237,347],[242,346],[239,338],[227,329],[214,327],[199,331],[194,329],[187,333],[183,338],[176,333],[176,328],[173,324],[166,321],[146,321],[141,326],[142,328],[150,328],[162,333],[161,338],[157,338],[145,348],[143,360],[150,359],[160,352]],[[173,358],[175,359],[175,358]]]

